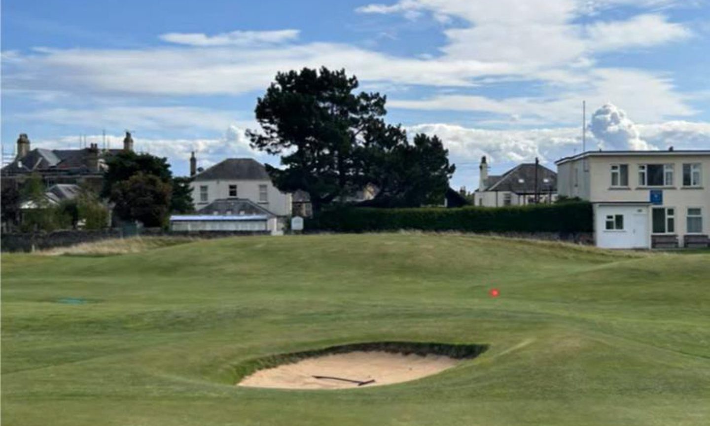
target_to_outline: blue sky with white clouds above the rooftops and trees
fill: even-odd
[[[244,135],[276,72],[344,68],[391,124],[436,134],[478,186],[587,149],[710,149],[710,0],[6,0],[1,141],[87,143],[207,168]]]

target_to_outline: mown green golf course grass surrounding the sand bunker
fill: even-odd
[[[2,308],[3,425],[710,424],[707,251],[371,234],[4,254]],[[234,386],[260,357],[362,342],[488,349],[391,386]]]

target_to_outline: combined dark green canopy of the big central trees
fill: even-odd
[[[275,186],[304,190],[314,211],[367,184],[381,189],[383,205],[443,200],[454,166],[439,139],[408,141],[383,121],[386,97],[358,87],[326,67],[276,75],[256,104],[261,131],[247,131],[253,148],[281,156],[283,168],[267,166]]]

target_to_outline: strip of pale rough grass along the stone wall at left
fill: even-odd
[[[110,256],[116,254],[141,253],[143,251],[176,246],[192,241],[197,241],[197,239],[187,236],[132,236],[130,238],[106,239],[68,247],[56,247],[55,249],[37,251],[35,253],[42,256]]]

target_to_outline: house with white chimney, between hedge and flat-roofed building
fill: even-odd
[[[474,204],[481,207],[517,206],[549,203],[557,199],[557,173],[535,159],[535,163],[516,165],[500,176],[488,176],[486,156],[479,166],[479,188]]]

